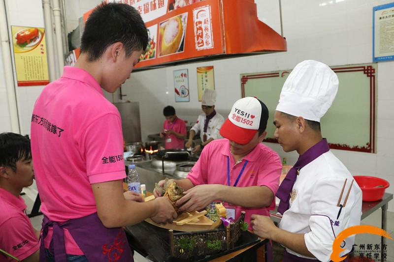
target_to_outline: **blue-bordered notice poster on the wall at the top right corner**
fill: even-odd
[[[373,7],[373,61],[394,60],[394,3]]]

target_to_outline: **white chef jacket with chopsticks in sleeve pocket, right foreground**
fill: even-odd
[[[356,181],[353,182],[345,207],[339,218],[337,205],[345,179],[346,186],[340,204],[343,204],[353,176],[347,168],[328,151],[299,170],[293,186],[290,208],[283,214],[280,228],[293,233],[303,233],[305,244],[319,261],[328,262],[335,237],[346,228],[360,225],[362,193]],[[352,250],[355,235],[345,239],[340,253],[343,256]],[[307,258],[290,249],[298,257]],[[310,258],[309,258],[310,259]]]

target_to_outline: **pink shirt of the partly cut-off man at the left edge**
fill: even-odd
[[[0,188],[0,249],[19,260],[26,259],[39,248],[38,238],[25,209],[22,197],[17,198]],[[0,252],[0,262],[5,261],[14,260]]]

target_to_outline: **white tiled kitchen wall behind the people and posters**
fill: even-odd
[[[7,2],[11,25],[43,25],[40,0]],[[98,2],[66,0],[67,31],[74,29],[78,18]],[[255,2],[259,19],[280,33],[278,1]],[[143,141],[147,140],[147,135],[158,133],[162,129],[162,110],[166,105],[174,106],[177,115],[189,123],[196,121],[197,115],[201,113],[201,104],[197,101],[198,66],[214,66],[215,88],[218,93],[216,109],[226,117],[231,105],[241,98],[239,75],[242,73],[292,69],[305,59],[319,60],[330,66],[372,62],[372,7],[390,2],[392,0],[282,0],[283,33],[288,44],[287,52],[190,63],[133,73],[131,79],[123,85],[122,93],[127,94],[125,99],[140,103]],[[178,69],[189,70],[190,102],[174,101],[173,71]],[[374,175],[388,180],[392,184],[387,190],[390,193],[394,193],[394,175],[390,165],[394,162],[393,71],[394,61],[379,62],[376,154],[333,150],[353,175]],[[10,128],[2,75],[0,65],[0,132]],[[30,132],[29,118],[41,88],[18,87],[18,106],[25,134]],[[111,95],[108,97],[112,99]],[[288,164],[296,162],[295,152],[285,153],[278,145],[267,145],[281,157],[286,157]],[[394,211],[393,205],[389,205],[389,210]]]

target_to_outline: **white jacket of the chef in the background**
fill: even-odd
[[[197,118],[197,123],[190,129],[194,130],[196,134],[200,132],[200,138],[201,142],[203,141],[204,134],[206,134],[206,140],[213,138],[215,139],[220,139],[223,138],[219,134],[219,130],[222,127],[223,123],[225,122],[225,119],[223,118],[222,115],[220,115],[218,112],[216,112],[216,115],[213,116],[211,119],[209,119],[208,123],[208,128],[206,129],[206,133],[204,133],[204,123],[205,123],[205,114],[201,114]]]

